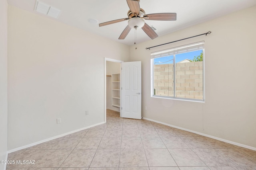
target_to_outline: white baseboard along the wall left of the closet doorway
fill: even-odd
[[[44,143],[44,142],[47,142],[47,141],[51,141],[51,140],[57,139],[57,138],[59,138],[59,137],[64,137],[64,136],[69,135],[69,134],[71,134],[71,133],[75,133],[75,132],[78,132],[78,131],[82,131],[82,130],[84,130],[84,129],[88,129],[88,128],[91,128],[91,127],[94,127],[94,126],[98,126],[98,125],[101,125],[101,124],[104,124],[104,123],[106,123],[106,122],[101,122],[101,123],[97,123],[97,124],[90,125],[90,126],[87,126],[87,127],[83,127],[83,128],[81,128],[81,129],[77,129],[77,130],[74,130],[74,131],[70,131],[70,132],[68,132],[68,133],[64,133],[64,134],[55,136],[55,137],[51,137],[51,138],[48,138],[48,139],[44,139],[44,140],[42,140],[42,141],[38,141],[38,142],[35,142],[35,143],[31,143],[31,144],[25,145],[25,146],[23,146],[23,147],[18,147],[18,148],[12,149],[12,150],[8,150],[8,153],[12,153],[12,152],[16,152],[16,151],[18,151],[18,150],[26,149],[26,148],[32,147],[32,146],[34,146],[34,145],[38,145],[38,144],[40,144],[40,143]],[[6,159],[6,160],[7,160],[7,159]]]

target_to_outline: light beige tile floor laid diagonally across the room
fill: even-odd
[[[7,170],[256,170],[256,151],[107,110],[107,123],[10,153]]]

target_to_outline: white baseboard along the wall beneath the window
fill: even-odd
[[[248,145],[244,145],[244,144],[241,144],[241,143],[236,143],[236,142],[233,142],[233,141],[228,141],[228,140],[226,140],[226,139],[222,139],[222,138],[219,138],[219,137],[214,137],[214,136],[211,136],[211,135],[207,135],[207,134],[204,134],[204,133],[192,131],[192,130],[185,129],[185,128],[182,128],[182,127],[170,125],[170,124],[168,124],[168,123],[156,121],[156,120],[153,120],[153,119],[148,119],[148,118],[146,118],[146,117],[142,117],[142,119],[149,120],[149,121],[153,121],[153,122],[160,123],[160,124],[163,124],[163,125],[166,125],[166,126],[170,126],[170,127],[174,127],[174,128],[177,128],[177,129],[181,129],[181,130],[184,130],[184,131],[196,133],[196,134],[198,134],[198,135],[202,135],[202,136],[205,136],[205,137],[209,137],[209,138],[212,138],[212,139],[216,139],[216,140],[218,140],[218,141],[230,143],[230,144],[236,145],[236,146],[238,146],[238,147],[243,147],[243,148],[247,148],[247,149],[251,149],[251,150],[256,150],[256,148],[250,147],[250,146],[248,146]]]

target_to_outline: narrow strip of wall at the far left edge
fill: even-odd
[[[7,2],[0,0],[0,160],[7,155]],[[4,169],[0,164],[0,169]]]

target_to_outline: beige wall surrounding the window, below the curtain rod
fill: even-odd
[[[130,47],[131,61],[142,61],[142,116],[256,148],[255,30],[256,6]],[[150,97],[150,53],[199,41],[205,41],[205,103]]]

